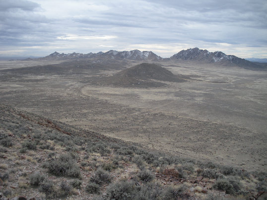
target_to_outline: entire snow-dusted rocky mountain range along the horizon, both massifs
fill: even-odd
[[[28,58],[26,60],[30,60]],[[170,58],[162,58],[152,51],[140,51],[140,50],[130,50],[130,51],[116,51],[109,50],[107,52],[98,53],[59,53],[54,52],[48,56],[37,58],[38,60],[54,60],[54,59],[99,59],[99,60],[150,60],[150,61],[160,61],[160,60],[191,60],[198,61],[200,63],[214,63],[217,65],[225,66],[241,66],[241,67],[252,67],[252,68],[263,68],[265,66],[260,63],[255,63],[243,58],[239,58],[235,55],[226,55],[221,51],[209,52],[208,50],[200,50],[199,48],[181,50],[180,52],[174,54]],[[36,59],[35,59],[36,60]]]

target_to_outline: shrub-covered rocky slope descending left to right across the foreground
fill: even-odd
[[[0,160],[1,198],[249,199],[266,190],[265,173],[142,149],[3,104]]]

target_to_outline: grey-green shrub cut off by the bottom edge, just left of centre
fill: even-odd
[[[107,200],[132,200],[134,199],[135,185],[130,181],[115,182],[107,188]]]

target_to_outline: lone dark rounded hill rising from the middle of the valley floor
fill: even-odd
[[[161,87],[166,84],[157,81],[185,82],[186,79],[189,77],[174,75],[157,64],[141,63],[111,77],[102,78],[101,81],[122,87]]]

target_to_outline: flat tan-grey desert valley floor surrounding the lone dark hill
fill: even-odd
[[[0,101],[147,148],[267,170],[267,71],[168,61],[159,63],[191,79],[157,88],[98,79],[138,63],[73,74],[0,71]],[[1,61],[0,69],[37,64]]]

